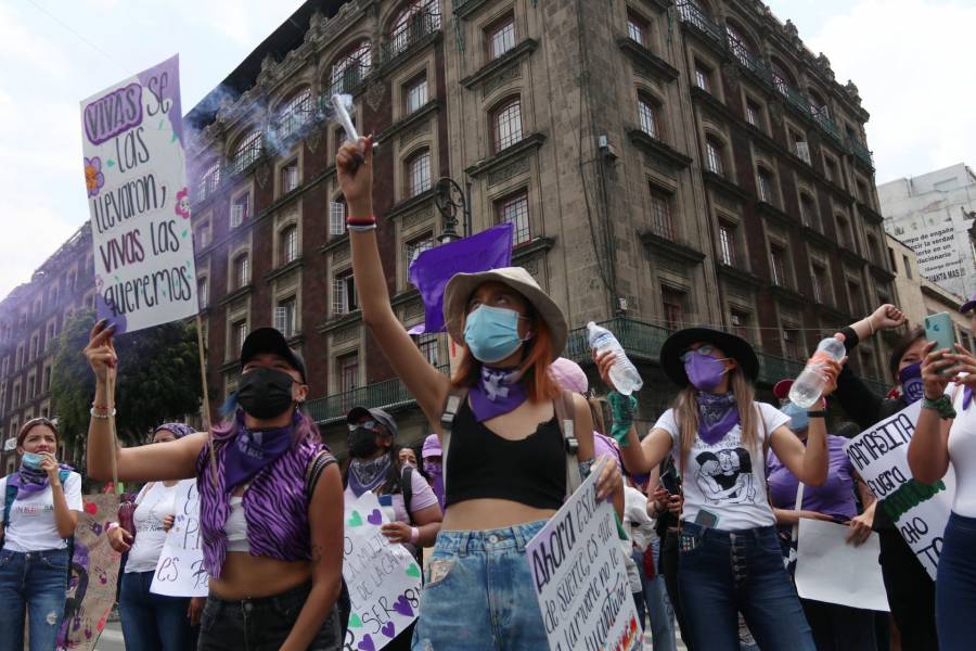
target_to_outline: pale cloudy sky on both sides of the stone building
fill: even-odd
[[[179,53],[189,110],[300,3],[0,0],[0,297],[88,219],[82,99]],[[976,165],[976,0],[769,4],[857,84],[878,182]]]

